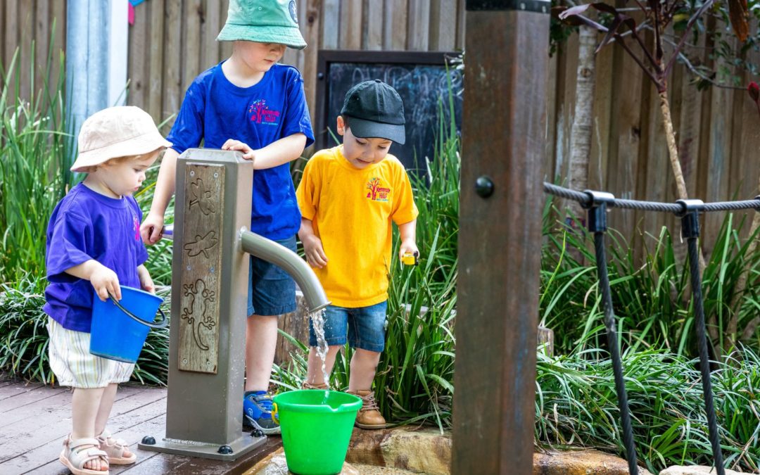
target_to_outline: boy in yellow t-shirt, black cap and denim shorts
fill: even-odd
[[[346,94],[337,118],[343,144],[318,151],[306,163],[296,191],[301,208],[298,236],[332,304],[325,313],[325,361],[332,370],[340,347],[354,348],[348,391],[363,399],[356,426],[385,427],[372,381],[385,348],[391,220],[401,236],[401,255],[417,254],[418,211],[404,165],[388,154],[404,144],[404,103],[393,87],[365,81]],[[309,372],[305,388],[326,388],[309,322]]]

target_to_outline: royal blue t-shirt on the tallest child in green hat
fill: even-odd
[[[293,134],[314,142],[303,79],[296,68],[275,64],[251,87],[237,87],[222,64],[202,72],[188,87],[169,137],[182,154],[198,147],[220,148],[227,139],[256,150]],[[290,177],[290,164],[255,170],[251,230],[269,239],[287,239],[301,226],[301,214]]]

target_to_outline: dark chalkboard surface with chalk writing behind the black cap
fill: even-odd
[[[394,154],[409,170],[424,169],[425,157],[430,160],[439,137],[439,116],[445,124],[451,121],[449,112],[449,83],[454,103],[454,121],[461,130],[462,87],[461,71],[445,65],[382,64],[331,62],[328,66],[326,93],[327,128],[334,132],[335,121],[347,91],[354,84],[381,79],[394,87],[404,100],[407,143],[393,144]],[[439,102],[442,104],[439,105]],[[328,146],[335,144],[328,134]]]

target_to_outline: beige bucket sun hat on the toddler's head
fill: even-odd
[[[116,106],[95,112],[79,131],[79,155],[72,172],[87,172],[93,166],[117,157],[147,154],[171,147],[158,131],[150,114],[135,106]]]

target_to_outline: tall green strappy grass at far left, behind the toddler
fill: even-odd
[[[63,56],[52,55],[51,43],[40,62],[49,73],[54,61],[65,70]],[[32,57],[31,64],[37,62]],[[20,97],[17,49],[10,65],[0,66],[0,75],[0,282],[13,282],[44,274],[47,223],[71,178],[69,135],[63,74],[40,90],[31,74],[31,97]]]

